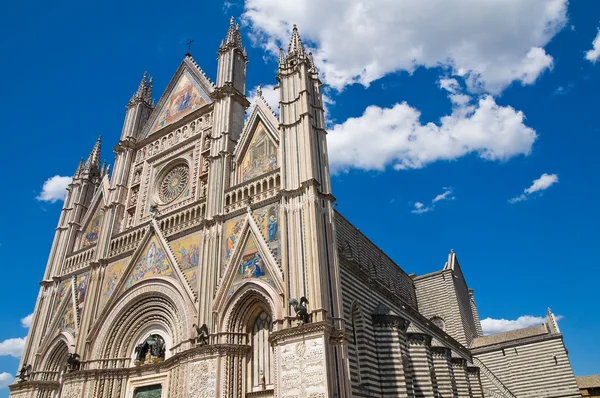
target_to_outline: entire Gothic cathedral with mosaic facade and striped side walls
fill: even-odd
[[[454,252],[408,275],[334,210],[297,29],[279,116],[247,61],[232,19],[215,83],[144,75],[110,173],[100,140],[79,164],[11,397],[580,396],[550,311],[483,336]]]

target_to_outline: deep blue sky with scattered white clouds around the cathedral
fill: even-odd
[[[190,38],[214,79],[230,15],[243,21],[249,96],[262,84],[271,101],[273,54],[298,24],[325,83],[345,217],[408,273],[439,270],[454,248],[490,331],[530,325],[525,316],[551,307],[575,373],[600,373],[600,3],[363,3],[4,7],[0,384],[16,371],[14,339],[27,334],[21,319],[33,310],[62,205],[52,202],[60,180],[40,196],[44,182],[70,176],[100,134],[112,163],[143,72],[158,100]]]

